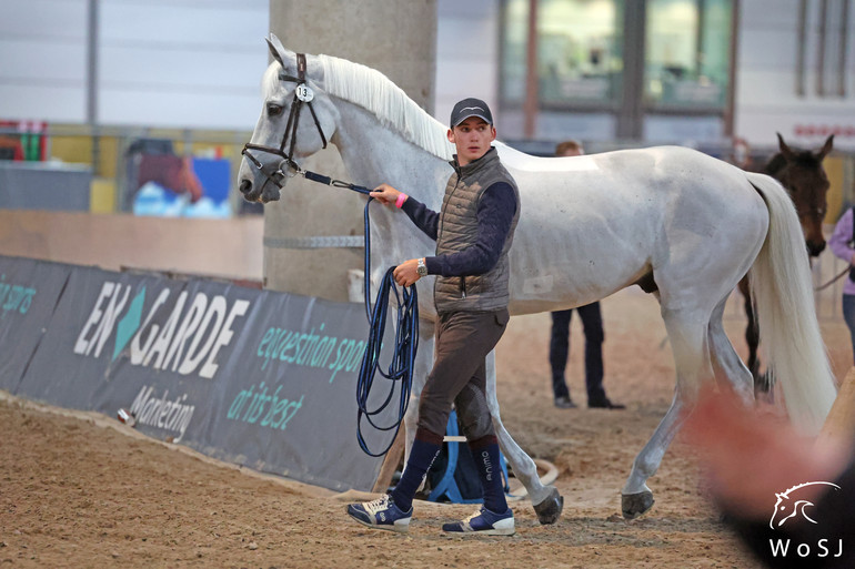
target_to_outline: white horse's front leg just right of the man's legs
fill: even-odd
[[[537,476],[537,466],[534,460],[520,448],[520,445],[511,437],[502,424],[499,415],[499,399],[496,398],[495,382],[495,350],[486,358],[486,397],[490,415],[493,418],[493,428],[499,438],[499,446],[511,464],[514,475],[523,482],[532,499],[534,511],[541,524],[555,524],[561,517],[564,507],[564,498],[554,486],[543,486]]]

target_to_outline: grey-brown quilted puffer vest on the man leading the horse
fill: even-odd
[[[436,237],[436,254],[456,253],[473,246],[477,240],[477,206],[484,190],[496,182],[506,182],[514,189],[516,212],[511,222],[502,254],[493,268],[482,275],[437,276],[434,302],[440,313],[452,311],[489,312],[507,307],[507,251],[514,238],[520,219],[520,192],[516,182],[499,160],[495,148],[481,159],[457,166],[445,186]]]

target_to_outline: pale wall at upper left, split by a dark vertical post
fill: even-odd
[[[268,0],[100,0],[97,121],[251,130]],[[87,0],[0,0],[0,119],[87,121]]]

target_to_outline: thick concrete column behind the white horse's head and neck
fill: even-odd
[[[270,0],[270,29],[292,51],[335,55],[381,71],[432,112],[436,0]],[[261,39],[259,49],[266,49]],[[332,145],[302,166],[351,181]],[[264,206],[265,287],[346,301],[348,270],[362,268],[363,250],[296,247],[305,237],[362,236],[363,204],[346,190],[290,180],[282,200]]]

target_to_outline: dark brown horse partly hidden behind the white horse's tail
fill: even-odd
[[[828,136],[823,148],[816,152],[791,149],[779,133],[777,140],[779,152],[772,156],[763,172],[786,187],[798,212],[798,220],[805,234],[807,254],[811,257],[816,257],[825,248],[823,220],[827,210],[826,194],[829,184],[823,167],[823,160],[832,151],[834,134]],[[747,275],[740,281],[740,292],[745,299],[745,314],[748,317],[748,325],[745,328],[745,341],[748,343],[746,365],[754,376],[755,390],[767,392],[770,389],[768,378],[765,374],[760,374],[760,359],[757,358],[760,329],[748,295]]]

